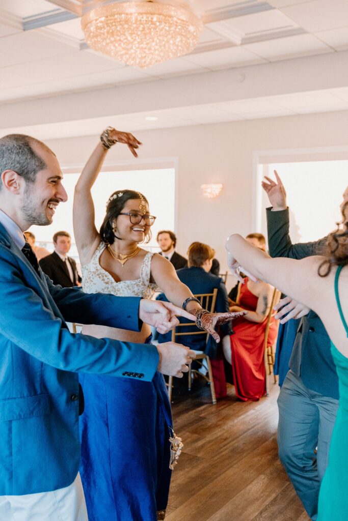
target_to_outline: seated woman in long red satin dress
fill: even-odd
[[[246,239],[260,250],[266,250],[265,237],[260,233],[250,233]],[[244,280],[245,283],[238,286],[237,299],[230,310],[246,309],[248,314],[233,322],[234,334],[223,339],[223,351],[226,361],[232,364],[236,396],[243,401],[257,401],[266,393],[264,341],[273,288],[266,282],[254,282],[248,277]],[[276,334],[277,325],[272,319],[268,336],[270,345]]]

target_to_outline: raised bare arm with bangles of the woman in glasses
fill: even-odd
[[[105,139],[105,136],[107,139]],[[128,132],[120,132],[109,127],[102,133],[101,141],[92,152],[76,183],[73,225],[81,264],[90,262],[100,242],[99,233],[94,224],[94,204],[91,189],[103,166],[107,150],[117,142],[126,144],[131,153],[137,157],[136,148],[141,144],[140,141]]]

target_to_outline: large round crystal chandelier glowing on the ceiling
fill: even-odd
[[[92,49],[141,68],[189,53],[203,29],[192,11],[152,1],[97,7],[81,26]]]

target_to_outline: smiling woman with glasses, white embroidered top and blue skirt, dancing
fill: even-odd
[[[170,302],[182,306],[186,301],[187,311],[219,340],[215,326],[239,314],[204,313],[172,264],[139,247],[155,220],[145,196],[117,190],[107,201],[100,231],[95,228],[91,188],[116,141],[137,156],[140,142],[133,135],[106,129],[75,188],[74,234],[83,291],[150,299],[160,287]],[[139,344],[151,340],[146,324],[140,332],[86,325],[83,333]],[[140,382],[137,373],[127,376],[133,378],[81,376],[86,407],[80,420],[80,474],[90,521],[154,521],[165,516],[172,419],[163,376],[156,374],[152,382]]]

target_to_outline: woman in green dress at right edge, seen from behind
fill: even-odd
[[[320,488],[317,521],[348,519],[348,188],[341,210],[342,226],[329,235],[327,256],[299,261],[273,259],[237,234],[226,243],[227,263],[238,280],[243,283],[239,270],[249,272],[313,309],[331,339],[340,403]]]

